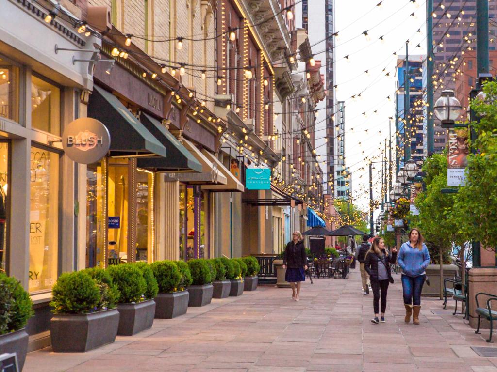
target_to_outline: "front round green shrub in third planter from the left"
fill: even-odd
[[[145,299],[147,282],[143,278],[142,270],[136,265],[123,263],[109,266],[107,270],[119,289],[119,304],[133,304]]]

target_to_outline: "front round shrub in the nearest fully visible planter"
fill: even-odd
[[[93,278],[84,271],[63,273],[52,288],[55,314],[87,314],[97,311],[100,290]]]

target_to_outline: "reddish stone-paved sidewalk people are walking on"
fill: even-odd
[[[470,346],[485,342],[453,316],[453,301],[422,299],[420,325],[404,323],[400,275],[389,288],[386,324],[372,324],[372,294],[349,278],[306,281],[301,299],[289,289],[259,287],[239,298],[156,319],[148,331],[87,353],[28,354],[24,372],[125,371],[438,371],[497,372],[497,358]]]

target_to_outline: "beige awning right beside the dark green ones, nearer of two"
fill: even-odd
[[[189,185],[226,185],[228,180],[202,152],[187,139],[182,140],[186,149],[202,165],[201,173],[170,173],[168,176]]]

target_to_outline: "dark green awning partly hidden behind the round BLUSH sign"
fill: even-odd
[[[99,120],[109,130],[111,156],[167,156],[166,148],[117,97],[96,85],[89,98],[88,117]]]

